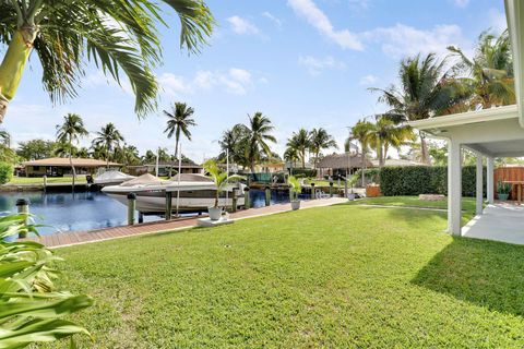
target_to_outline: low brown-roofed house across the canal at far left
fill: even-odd
[[[73,158],[72,159],[76,174],[94,174],[97,169],[105,168],[107,163],[104,160]],[[72,176],[69,158],[51,157],[33,161],[22,163],[26,177],[63,177]],[[109,163],[109,168],[119,168],[120,164]]]

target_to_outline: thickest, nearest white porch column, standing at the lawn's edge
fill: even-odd
[[[462,226],[461,144],[448,141],[448,232],[461,236]]]

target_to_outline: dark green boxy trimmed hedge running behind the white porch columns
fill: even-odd
[[[486,193],[486,168],[484,168]],[[380,171],[380,190],[385,196],[443,194],[448,195],[448,167],[384,167]],[[462,195],[475,196],[476,167],[462,168]]]

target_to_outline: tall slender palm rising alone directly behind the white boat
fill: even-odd
[[[188,107],[184,103],[177,101],[171,109],[171,112],[164,110],[164,115],[167,117],[167,128],[164,130],[164,133],[167,133],[168,139],[175,135],[175,159],[177,159],[180,133],[191,141],[191,132],[189,131],[189,128],[195,127],[196,122],[191,118],[194,113],[194,109]]]

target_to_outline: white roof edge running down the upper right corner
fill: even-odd
[[[508,21],[508,29],[511,39],[511,48],[513,52],[513,72],[515,76],[515,98],[519,106],[519,123],[524,128],[524,91],[521,82],[524,79],[524,48],[523,24],[524,24],[524,3],[521,0],[504,0],[505,19]]]

